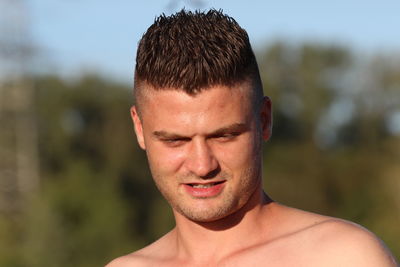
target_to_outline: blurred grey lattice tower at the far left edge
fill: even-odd
[[[14,212],[39,188],[32,46],[25,0],[0,0],[0,212]]]

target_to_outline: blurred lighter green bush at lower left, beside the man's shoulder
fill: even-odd
[[[84,162],[54,178],[27,213],[28,266],[101,266],[135,245],[125,234],[128,209],[112,178]]]

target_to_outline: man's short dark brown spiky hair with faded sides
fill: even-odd
[[[263,95],[257,61],[246,31],[221,10],[181,10],[155,19],[139,42],[134,95],[144,88],[195,95],[212,86],[249,81]],[[261,96],[261,97],[260,97]]]

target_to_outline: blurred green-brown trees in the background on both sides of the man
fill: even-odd
[[[385,124],[399,107],[399,68],[376,57],[360,69],[348,49],[315,44],[277,43],[259,62],[274,104],[266,191],[360,223],[400,256],[400,139]],[[364,80],[374,86],[363,91]],[[102,266],[171,229],[171,211],[136,145],[130,88],[95,75],[33,82],[41,190],[18,212],[1,214],[0,266]],[[338,116],[343,99],[353,111]]]

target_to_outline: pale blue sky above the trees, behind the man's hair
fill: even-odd
[[[91,70],[131,82],[141,35],[157,15],[184,6],[222,8],[248,31],[256,49],[275,40],[288,40],[338,43],[360,52],[400,51],[399,0],[195,2],[202,4],[26,0],[32,39],[48,62],[43,66],[66,76]]]

